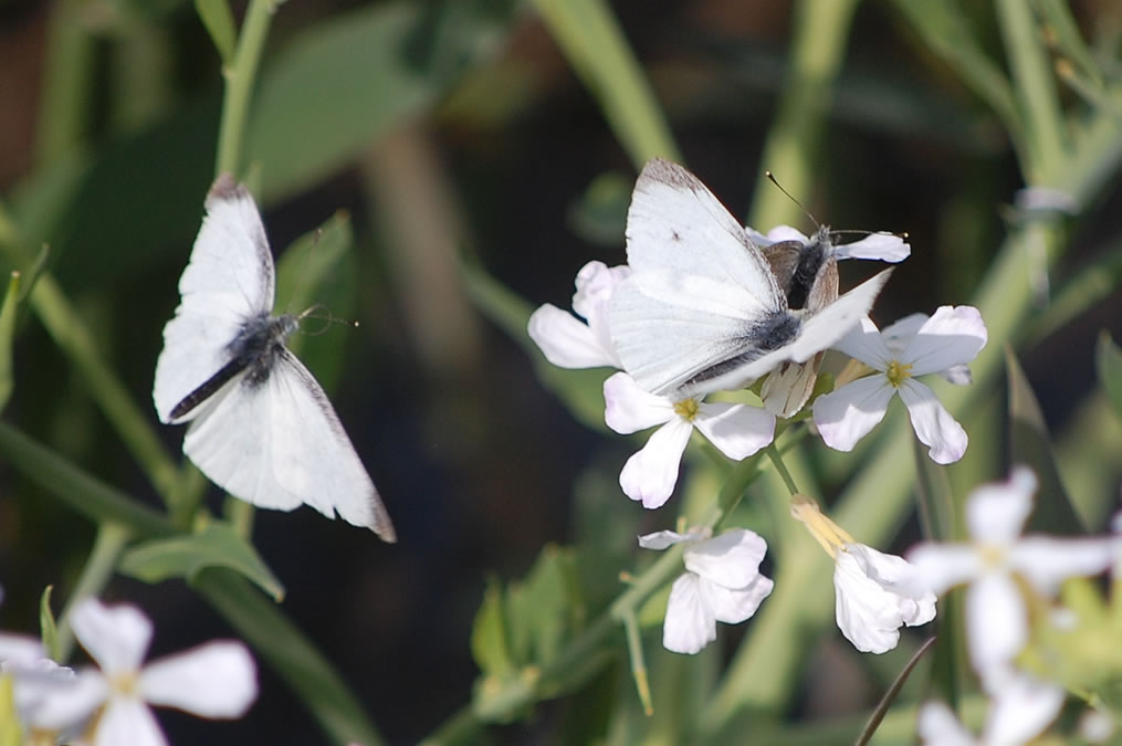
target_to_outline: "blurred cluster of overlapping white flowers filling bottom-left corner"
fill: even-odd
[[[167,740],[149,704],[204,718],[239,718],[257,699],[257,672],[245,645],[215,641],[141,666],[151,621],[131,606],[80,601],[74,636],[96,667],[74,671],[44,656],[35,641],[0,636],[0,664],[15,681],[16,709],[31,735],[95,746]]]

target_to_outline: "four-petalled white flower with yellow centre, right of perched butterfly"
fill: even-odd
[[[914,320],[909,316],[905,323]],[[867,317],[842,339],[836,349],[880,371],[846,384],[833,394],[815,400],[815,424],[822,440],[838,451],[852,451],[888,411],[894,394],[900,394],[912,429],[936,463],[951,463],[963,458],[967,438],[935,392],[916,380],[925,374],[947,371],[951,380],[962,380],[962,366],[985,347],[986,329],[973,306],[942,306],[914,334],[907,339],[899,330],[885,330],[896,351],[890,348],[876,325]]]

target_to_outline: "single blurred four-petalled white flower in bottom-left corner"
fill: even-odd
[[[84,669],[72,685],[50,688],[31,712],[33,727],[61,730],[100,708],[94,746],[155,746],[166,739],[149,704],[238,718],[257,698],[256,669],[241,643],[208,643],[141,669],[151,621],[138,609],[109,608],[90,598],[74,608],[71,620],[100,671]]]

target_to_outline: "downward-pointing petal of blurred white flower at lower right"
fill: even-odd
[[[1008,665],[1028,637],[1024,601],[1009,575],[987,572],[971,583],[966,589],[966,642],[981,678]]]

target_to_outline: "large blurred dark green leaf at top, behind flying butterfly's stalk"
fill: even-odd
[[[513,2],[377,3],[312,26],[263,72],[246,138],[267,200],[339,171],[497,48]]]

